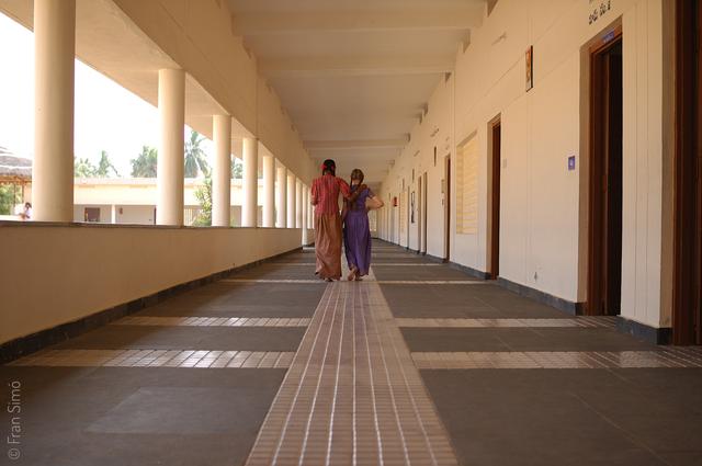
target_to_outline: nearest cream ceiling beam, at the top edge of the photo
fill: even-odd
[[[315,11],[240,13],[233,16],[238,35],[309,34],[332,32],[446,31],[475,29],[483,22],[484,2],[454,9],[393,11]]]

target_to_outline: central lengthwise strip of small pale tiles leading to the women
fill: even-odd
[[[329,285],[247,465],[456,463],[378,285]]]

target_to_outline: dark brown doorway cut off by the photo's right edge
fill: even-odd
[[[702,344],[702,8],[677,1],[672,342]]]

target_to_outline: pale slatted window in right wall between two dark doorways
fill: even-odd
[[[478,144],[473,134],[456,151],[456,234],[478,232]]]

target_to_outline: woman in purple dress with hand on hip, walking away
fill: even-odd
[[[349,263],[349,280],[360,281],[369,274],[371,269],[371,228],[369,211],[383,207],[383,201],[363,184],[363,172],[355,169],[351,172],[352,201],[344,202],[343,212],[343,243],[347,262]],[[355,197],[355,198],[353,198]]]

